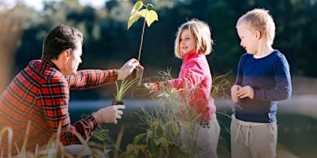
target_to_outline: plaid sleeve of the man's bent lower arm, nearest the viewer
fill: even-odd
[[[65,78],[48,79],[47,83],[43,84],[40,89],[39,102],[42,104],[51,134],[57,134],[59,124],[61,124],[60,139],[64,145],[79,142],[75,133],[79,133],[83,139],[87,139],[97,126],[92,115],[72,125],[68,112],[69,99],[68,82]]]

